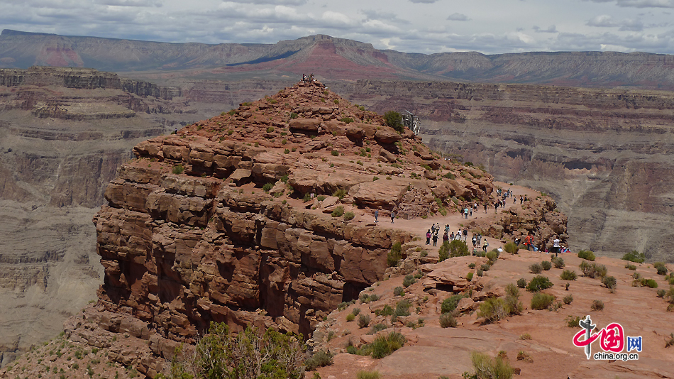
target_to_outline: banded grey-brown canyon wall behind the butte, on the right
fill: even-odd
[[[434,150],[553,195],[570,246],[671,261],[674,95],[528,85],[358,82],[350,99],[408,109]]]

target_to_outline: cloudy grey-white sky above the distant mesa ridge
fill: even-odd
[[[4,29],[200,43],[327,34],[407,53],[674,53],[674,0],[0,0]]]

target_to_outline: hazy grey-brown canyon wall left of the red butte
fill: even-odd
[[[0,363],[95,298],[91,219],[131,148],[201,113],[176,89],[87,69],[0,70]],[[209,111],[212,114],[212,111]]]

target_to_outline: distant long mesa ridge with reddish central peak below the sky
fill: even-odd
[[[579,87],[674,89],[674,57],[649,53],[554,52],[483,55],[377,50],[329,35],[274,45],[157,43],[4,30],[0,67],[93,67],[172,76],[265,77],[314,72],[321,79],[426,79]],[[176,72],[176,70],[187,70]]]

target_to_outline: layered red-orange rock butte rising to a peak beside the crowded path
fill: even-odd
[[[385,224],[390,212],[423,221],[494,199],[490,175],[441,159],[318,82],[134,153],[94,217],[99,302],[66,329],[151,377],[211,321],[311,335],[340,302],[384,278],[394,242],[418,239]],[[471,229],[505,240],[537,230],[550,243],[565,236],[565,217],[553,211],[550,198],[531,199]]]

